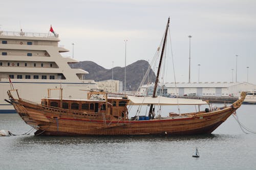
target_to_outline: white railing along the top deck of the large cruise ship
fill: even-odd
[[[52,33],[25,33],[25,32],[14,32],[14,31],[0,31],[1,35],[9,35],[9,36],[26,36],[26,37],[58,37],[58,34],[56,36],[52,35]]]

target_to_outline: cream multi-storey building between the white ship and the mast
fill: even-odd
[[[123,82],[119,80],[104,80],[96,83],[99,89],[106,92],[119,93],[123,91]]]

